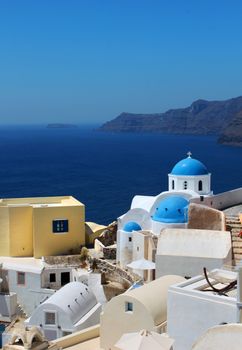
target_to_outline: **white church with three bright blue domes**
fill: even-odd
[[[190,202],[205,204],[212,195],[211,174],[188,152],[168,174],[168,191],[157,196],[135,196],[130,210],[118,218],[117,262],[126,266],[132,261],[134,231],[158,236],[166,227],[186,228]]]

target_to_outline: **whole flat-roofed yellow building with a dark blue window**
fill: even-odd
[[[58,255],[85,244],[85,206],[71,196],[0,200],[0,256]]]

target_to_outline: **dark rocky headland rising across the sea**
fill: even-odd
[[[242,96],[226,101],[198,100],[186,108],[171,109],[165,113],[122,113],[103,124],[102,131],[160,132],[166,134],[221,135],[220,142],[240,144],[238,132],[242,127]],[[229,134],[227,134],[227,131]],[[224,136],[223,136],[224,135]],[[233,135],[236,136],[235,142]],[[240,133],[241,135],[241,133]],[[224,138],[223,138],[224,137]]]

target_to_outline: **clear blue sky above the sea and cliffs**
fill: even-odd
[[[0,0],[0,123],[242,95],[241,0]]]

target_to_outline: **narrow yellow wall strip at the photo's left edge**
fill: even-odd
[[[0,256],[9,256],[9,215],[8,208],[0,207]]]

